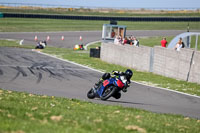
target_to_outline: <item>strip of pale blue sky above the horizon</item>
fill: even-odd
[[[66,5],[69,7],[109,8],[199,8],[200,0],[0,0],[1,3]]]

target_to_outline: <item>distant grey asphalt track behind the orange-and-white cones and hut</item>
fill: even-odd
[[[183,30],[134,30],[127,31],[127,36],[135,37],[153,37],[153,36],[175,36],[183,33]],[[47,42],[49,46],[61,48],[73,48],[75,44],[87,44],[93,41],[99,41],[102,37],[101,31],[66,31],[66,32],[0,32],[0,39],[16,39],[23,40],[24,44],[36,45],[35,36],[38,41],[46,40],[47,36],[50,40]],[[64,41],[61,37],[64,36]],[[80,41],[80,36],[82,41]]]

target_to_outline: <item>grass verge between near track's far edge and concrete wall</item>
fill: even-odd
[[[100,45],[100,43],[95,44],[94,46],[91,45],[88,48],[96,47],[98,45]],[[0,46],[23,47],[19,46],[19,44],[15,42],[3,41],[3,40],[0,40]],[[31,47],[34,48],[34,46],[28,46],[28,48]],[[89,49],[88,52],[86,52],[86,51],[74,51],[72,49],[65,49],[65,48],[47,47],[46,49],[43,50],[43,52],[51,55],[56,55],[59,58],[67,59],[98,70],[102,70],[104,72],[111,72],[113,70],[125,71],[127,69],[126,67],[123,66],[103,62],[99,58],[90,58]],[[134,81],[200,96],[200,85],[197,83],[190,83],[182,80],[167,78],[149,72],[141,72],[141,71],[136,71],[134,69],[132,70],[134,71],[134,76],[132,77],[132,80]]]

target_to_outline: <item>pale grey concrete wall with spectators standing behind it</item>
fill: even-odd
[[[200,52],[102,43],[101,60],[166,77],[200,83]]]

